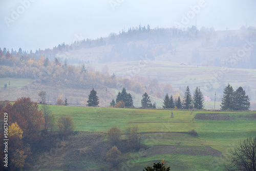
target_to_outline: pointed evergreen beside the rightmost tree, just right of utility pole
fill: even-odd
[[[223,92],[223,97],[221,99],[221,110],[233,110],[233,97],[234,97],[234,91],[232,86],[230,84],[227,84],[227,87],[225,87]]]

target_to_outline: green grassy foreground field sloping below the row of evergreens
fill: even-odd
[[[70,115],[74,119],[76,131],[107,132],[112,126],[118,126],[125,133],[127,127],[137,125],[143,137],[142,143],[148,147],[154,145],[211,147],[222,153],[222,157],[214,156],[215,170],[223,170],[225,156],[230,147],[236,145],[239,140],[255,136],[256,133],[255,119],[248,120],[243,117],[236,117],[234,120],[195,119],[196,114],[199,113],[244,116],[256,113],[255,111],[236,113],[194,111],[190,115],[191,111],[173,110],[175,117],[170,118],[170,110],[73,106],[50,108],[56,117]],[[197,137],[187,133],[192,129],[197,131]],[[156,154],[145,157],[143,150],[137,153],[123,153],[123,162],[118,165],[117,170],[142,170],[143,167],[160,162],[162,159],[167,160],[172,170],[211,170],[210,155]],[[97,168],[95,165],[94,167]]]

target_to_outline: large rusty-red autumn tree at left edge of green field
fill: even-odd
[[[30,97],[18,98],[14,104],[8,103],[5,111],[12,114],[12,123],[17,122],[23,130],[24,138],[33,139],[44,125],[44,114],[38,109],[38,104],[31,101]]]

